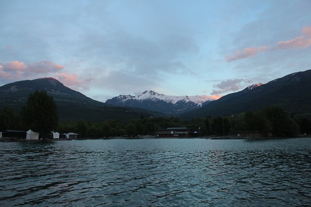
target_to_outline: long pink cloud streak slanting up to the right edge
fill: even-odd
[[[266,52],[272,49],[308,48],[311,46],[311,26],[304,27],[301,32],[303,34],[302,36],[287,41],[280,41],[274,48],[267,46],[244,48],[243,50],[236,50],[232,56],[226,55],[225,59],[227,62],[232,62],[243,58],[249,58],[257,55],[259,52]]]

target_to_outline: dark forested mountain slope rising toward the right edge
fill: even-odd
[[[258,111],[272,105],[278,105],[289,113],[311,113],[311,70],[247,87],[240,92],[223,96],[207,106],[183,113],[180,118],[228,116],[248,110]]]

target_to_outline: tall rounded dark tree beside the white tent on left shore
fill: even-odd
[[[30,94],[20,115],[23,127],[39,132],[42,139],[58,126],[59,116],[56,104],[46,91],[36,90]]]

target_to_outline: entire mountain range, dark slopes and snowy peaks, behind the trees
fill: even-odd
[[[278,105],[284,111],[295,114],[311,113],[311,70],[296,72],[265,84],[253,84],[217,100],[209,96],[166,96],[145,91],[138,96],[116,96],[103,103],[53,78],[22,80],[0,86],[0,109],[9,106],[18,112],[35,90],[45,90],[53,96],[63,121],[128,121],[142,116],[171,115],[190,119],[257,111],[271,105]]]

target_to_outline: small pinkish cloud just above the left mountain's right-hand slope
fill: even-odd
[[[64,85],[70,87],[74,90],[83,89],[88,91],[89,90],[89,83],[92,79],[86,80],[78,80],[78,76],[75,73],[56,73],[55,77],[57,80],[62,82]]]

